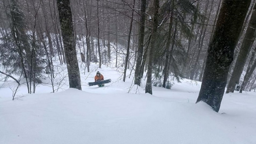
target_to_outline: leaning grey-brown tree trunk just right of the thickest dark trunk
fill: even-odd
[[[244,40],[242,42],[240,52],[237,57],[236,65],[230,77],[229,84],[227,85],[226,93],[234,92],[236,84],[239,84],[239,79],[244,70],[244,65],[245,65],[248,53],[255,40],[255,29],[256,29],[256,7],[254,6],[249,25],[246,30]]]

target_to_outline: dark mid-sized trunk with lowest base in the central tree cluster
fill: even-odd
[[[157,39],[157,26],[158,26],[158,8],[159,0],[154,0],[154,18],[153,18],[153,30],[151,33],[150,41],[150,53],[147,67],[147,84],[145,88],[145,93],[150,93],[152,95],[152,69],[153,69],[153,58],[155,51],[155,41]]]

